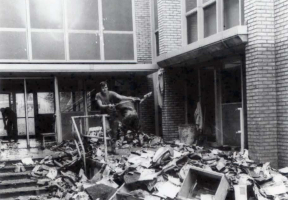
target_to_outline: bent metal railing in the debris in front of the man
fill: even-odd
[[[83,162],[84,162],[84,170],[85,170],[85,174],[87,174],[87,168],[86,168],[86,153],[85,153],[85,149],[84,149],[84,145],[81,139],[82,137],[87,137],[87,138],[102,138],[102,137],[97,137],[97,136],[88,136],[88,135],[84,135],[82,134],[82,128],[79,132],[77,124],[75,122],[75,119],[78,118],[90,118],[90,117],[101,117],[102,118],[102,125],[103,125],[103,132],[104,132],[104,145],[105,145],[105,161],[107,161],[107,157],[108,157],[108,153],[107,153],[107,140],[110,140],[109,137],[106,136],[106,123],[105,123],[105,118],[109,117],[109,115],[104,114],[104,115],[85,115],[85,116],[74,116],[71,117],[72,119],[72,130],[76,131],[77,134],[77,138],[80,142],[80,145],[82,147],[82,152],[83,152]]]

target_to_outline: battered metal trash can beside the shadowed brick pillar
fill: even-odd
[[[196,124],[181,124],[178,126],[179,140],[181,143],[191,145],[195,142],[198,130]]]

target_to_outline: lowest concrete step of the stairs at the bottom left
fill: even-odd
[[[41,195],[47,194],[49,192],[46,186],[38,187],[38,186],[30,186],[30,187],[21,187],[21,188],[9,188],[9,189],[1,189],[0,196],[3,198],[12,198],[22,195]]]

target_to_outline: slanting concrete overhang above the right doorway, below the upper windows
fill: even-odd
[[[247,26],[236,26],[156,58],[159,67],[194,65],[241,54],[248,42]]]

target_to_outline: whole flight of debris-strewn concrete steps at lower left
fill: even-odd
[[[25,166],[26,171],[14,172],[13,163],[21,161],[10,161],[4,168],[0,169],[0,199],[10,200],[16,197],[45,195],[48,194],[46,186],[37,185],[36,179],[31,179],[29,174],[34,166]]]

